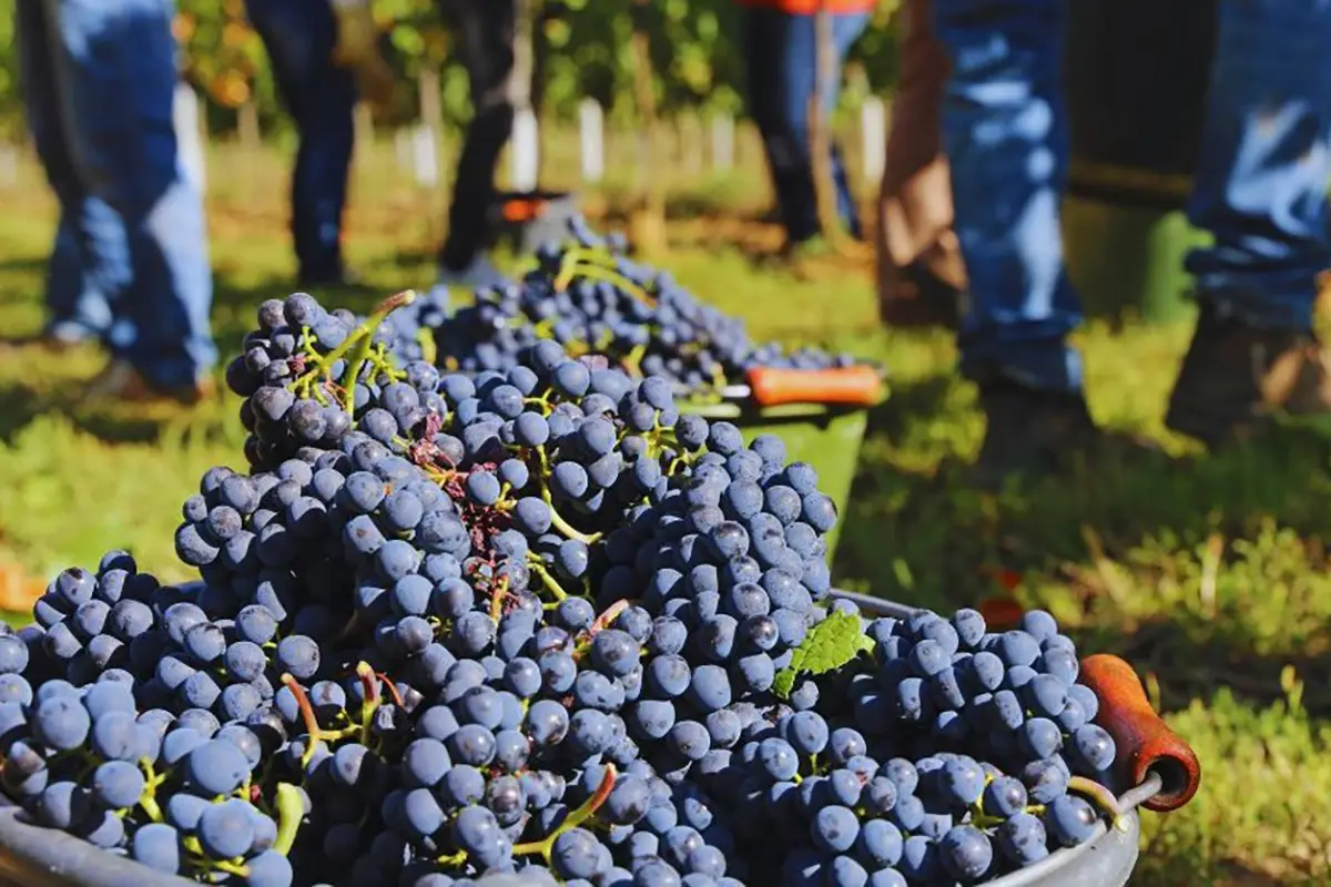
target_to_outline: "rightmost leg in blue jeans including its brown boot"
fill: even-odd
[[[1312,334],[1331,263],[1331,3],[1219,5],[1206,133],[1191,221],[1202,313],[1167,422],[1217,444],[1275,412],[1331,415],[1326,355]]]

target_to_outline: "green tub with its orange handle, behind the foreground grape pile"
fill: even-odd
[[[709,396],[680,395],[680,410],[733,422],[745,440],[773,434],[785,442],[787,461],[807,461],[819,472],[819,489],[845,515],[851,483],[869,408],[886,399],[882,374],[872,366],[836,370],[753,368],[747,384],[725,386]],[[828,561],[841,524],[827,535]]]

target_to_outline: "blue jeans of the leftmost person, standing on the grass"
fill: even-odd
[[[61,206],[53,309],[166,387],[217,359],[202,198],[181,172],[172,118],[173,12],[168,0],[17,7],[28,120]]]

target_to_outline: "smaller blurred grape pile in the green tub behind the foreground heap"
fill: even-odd
[[[393,330],[401,336],[402,322]],[[520,282],[476,293],[474,305],[443,323],[413,324],[402,355],[419,356],[415,330],[433,328],[437,354],[450,368],[508,371],[539,339],[571,355],[595,352],[634,378],[660,376],[691,394],[743,383],[752,367],[823,370],[856,363],[847,354],[749,339],[744,323],[699,301],[668,273],[635,262],[624,243],[602,238],[584,221],[570,223],[567,243],[550,243]]]

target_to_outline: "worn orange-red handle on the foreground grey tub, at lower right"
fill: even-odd
[[[1097,653],[1082,660],[1078,680],[1099,697],[1095,723],[1114,737],[1117,765],[1126,783],[1141,785],[1151,770],[1163,779],[1161,793],[1143,806],[1169,813],[1191,801],[1202,782],[1202,762],[1151,709],[1133,666],[1117,656]]]

